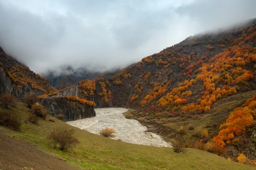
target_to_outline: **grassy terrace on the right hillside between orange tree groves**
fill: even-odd
[[[196,119],[186,119],[184,121],[181,117],[170,118],[175,120],[175,122],[163,123],[162,125],[165,127],[170,127],[173,130],[179,131],[180,126],[182,126],[185,130],[185,134],[183,135],[183,139],[186,142],[193,142],[195,140],[200,140],[193,136],[195,133],[200,133],[202,130],[207,129],[209,131],[209,136],[217,136],[218,135],[218,127],[226,121],[230,112],[232,112],[235,108],[240,107],[244,104],[247,99],[250,99],[256,91],[247,91],[244,93],[239,93],[233,96],[225,97],[218,102],[212,105],[212,109],[204,114],[192,115],[197,116]],[[161,120],[161,119],[160,119]],[[166,118],[163,118],[166,120]],[[161,123],[164,121],[157,121],[154,119],[154,122]],[[214,125],[214,126],[210,126]],[[193,126],[194,130],[189,130],[189,126]],[[170,135],[173,132],[170,132]]]

